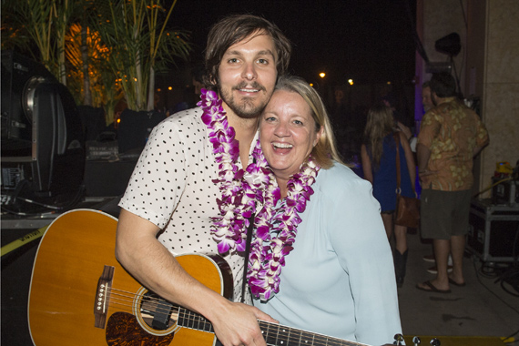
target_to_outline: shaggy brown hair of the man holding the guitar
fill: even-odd
[[[218,89],[218,70],[225,52],[239,41],[249,37],[266,34],[272,37],[276,47],[278,76],[285,74],[289,67],[291,45],[280,28],[257,15],[229,15],[209,31],[205,51],[206,76],[204,84],[212,90]]]

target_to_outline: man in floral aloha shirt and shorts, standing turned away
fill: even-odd
[[[473,157],[488,144],[480,118],[456,99],[456,84],[448,73],[431,79],[436,107],[425,114],[418,135],[418,170],[422,181],[422,237],[432,239],[438,273],[419,283],[419,290],[448,293],[463,286],[463,251],[468,231]],[[447,260],[453,257],[453,272]]]

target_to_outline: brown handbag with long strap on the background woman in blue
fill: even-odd
[[[400,188],[400,137],[394,134],[396,142],[396,212],[394,224],[417,229],[420,226],[420,199],[402,196]],[[414,188],[412,188],[414,191]]]

